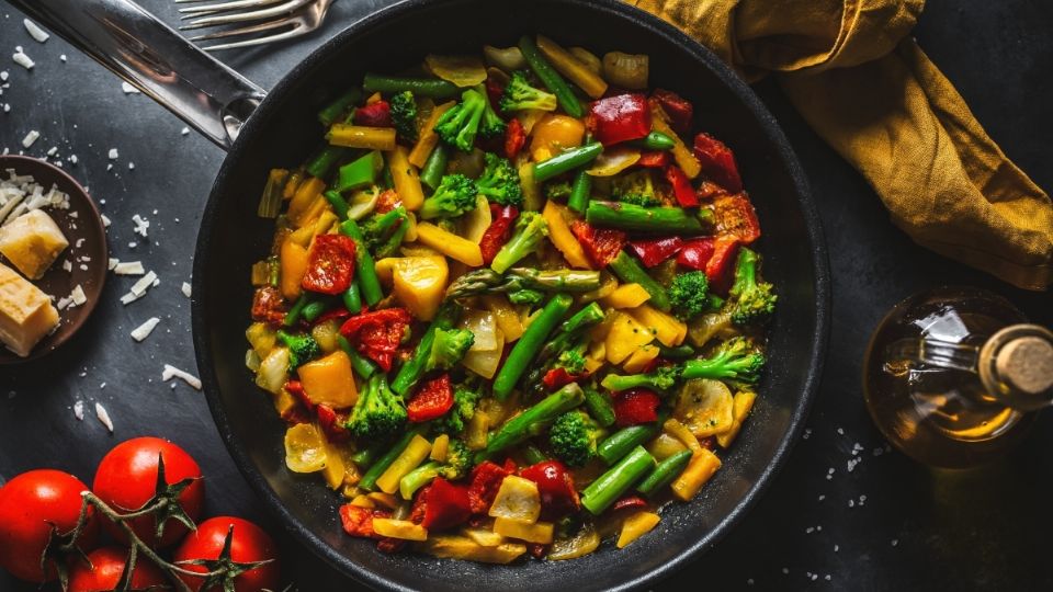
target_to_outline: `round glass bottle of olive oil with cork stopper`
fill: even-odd
[[[874,331],[863,396],[878,428],[927,465],[992,460],[1053,405],[1053,332],[976,288],[937,288],[897,305]]]

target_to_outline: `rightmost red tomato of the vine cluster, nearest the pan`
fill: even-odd
[[[176,549],[176,554],[172,556],[173,561],[179,563],[180,561],[197,559],[207,561],[218,559],[231,526],[234,527],[230,535],[231,561],[251,563],[271,560],[270,563],[250,569],[238,576],[234,580],[235,590],[237,592],[259,592],[263,589],[279,590],[280,570],[278,548],[274,546],[274,540],[256,524],[239,517],[216,516],[202,522],[197,525],[197,530],[188,535]],[[205,566],[183,563],[183,567],[201,573],[207,571]],[[204,581],[200,577],[180,576],[180,579],[194,592],[219,592],[220,590],[219,585],[215,585],[203,591],[201,585]]]

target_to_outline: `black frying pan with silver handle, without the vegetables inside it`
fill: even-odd
[[[394,590],[639,588],[727,533],[797,437],[826,346],[829,278],[819,219],[771,114],[713,54],[672,26],[612,0],[407,0],[349,26],[264,99],[262,90],[125,0],[12,1],[229,149],[195,255],[199,369],[219,433],[245,477],[294,535],[348,576]],[[484,43],[512,44],[534,32],[597,53],[649,54],[652,86],[693,101],[697,125],[735,150],[765,230],[759,249],[766,276],[780,296],[768,372],[749,421],[724,455],[724,468],[694,501],[667,508],[656,531],[625,549],[607,544],[574,561],[511,566],[383,555],[372,542],[342,533],[336,494],[310,476],[286,470],[285,426],[245,368],[249,269],[267,252],[273,230],[256,207],[268,170],[303,161],[321,134],[315,121],[319,106],[359,82],[366,69],[398,71],[428,53],[477,52]]]

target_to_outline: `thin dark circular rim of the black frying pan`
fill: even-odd
[[[234,144],[230,151],[224,159],[224,162],[216,177],[215,183],[210,192],[208,201],[202,215],[201,228],[199,230],[197,244],[194,257],[193,274],[193,294],[191,303],[194,350],[205,398],[208,401],[208,408],[216,423],[227,451],[237,465],[245,479],[252,486],[257,493],[262,498],[264,505],[276,515],[283,523],[283,526],[291,532],[303,545],[310,548],[315,555],[333,566],[341,573],[356,579],[359,582],[387,590],[411,590],[397,584],[386,578],[370,571],[343,555],[337,553],[327,545],[320,537],[304,526],[282,503],[278,494],[271,489],[262,474],[252,464],[250,455],[244,448],[233,434],[230,423],[227,419],[227,412],[219,400],[219,387],[215,373],[212,369],[212,346],[206,339],[208,334],[205,327],[205,301],[203,297],[206,289],[203,285],[205,267],[208,263],[210,238],[216,224],[216,209],[220,198],[220,190],[228,184],[230,171],[235,168],[234,162],[238,160],[244,147],[256,135],[257,129],[267,118],[267,113],[278,110],[283,102],[283,95],[301,82],[309,70],[319,61],[327,59],[331,54],[339,50],[348,39],[356,36],[361,31],[369,29],[373,24],[398,20],[404,14],[420,7],[434,4],[441,0],[403,0],[381,9],[367,16],[364,16],[353,23],[350,23],[340,33],[333,35],[317,49],[310,53],[305,59],[297,64],[288,73],[274,86],[267,98],[260,104],[253,116],[249,117],[245,127],[241,129],[238,140]],[[757,477],[752,487],[747,491],[736,508],[724,515],[721,521],[710,530],[705,535],[688,547],[684,547],[671,560],[661,567],[634,579],[624,581],[612,590],[634,590],[645,584],[654,583],[658,580],[669,577],[671,573],[684,566],[691,559],[698,557],[702,551],[714,546],[722,539],[732,526],[741,519],[745,513],[754,506],[756,501],[765,493],[771,483],[772,477],[784,465],[786,456],[793,445],[799,441],[804,422],[815,399],[818,386],[823,375],[823,364],[827,349],[827,339],[830,319],[830,286],[829,286],[829,262],[827,257],[826,242],[823,235],[823,228],[818,210],[812,200],[807,178],[804,169],[801,167],[790,141],[786,139],[782,128],[775,122],[768,109],[761,103],[760,99],[737,75],[726,66],[715,54],[703,47],[701,44],[689,37],[687,34],[676,29],[669,23],[660,21],[649,13],[630,7],[618,0],[591,0],[588,2],[589,10],[613,13],[615,16],[635,22],[638,26],[650,29],[659,36],[666,37],[681,50],[688,53],[690,57],[706,65],[711,72],[736,96],[745,106],[750,115],[757,121],[765,139],[777,149],[778,157],[785,166],[788,173],[793,181],[797,197],[797,207],[805,221],[805,229],[808,240],[808,247],[812,252],[812,266],[815,274],[815,331],[811,335],[809,343],[812,351],[808,355],[807,373],[804,378],[804,388],[801,399],[794,409],[789,429],[783,435],[779,445],[775,447],[771,462]]]

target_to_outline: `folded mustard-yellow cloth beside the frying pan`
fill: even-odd
[[[747,80],[769,72],[916,242],[1016,286],[1053,284],[1053,203],[907,34],[924,0],[626,0]]]

